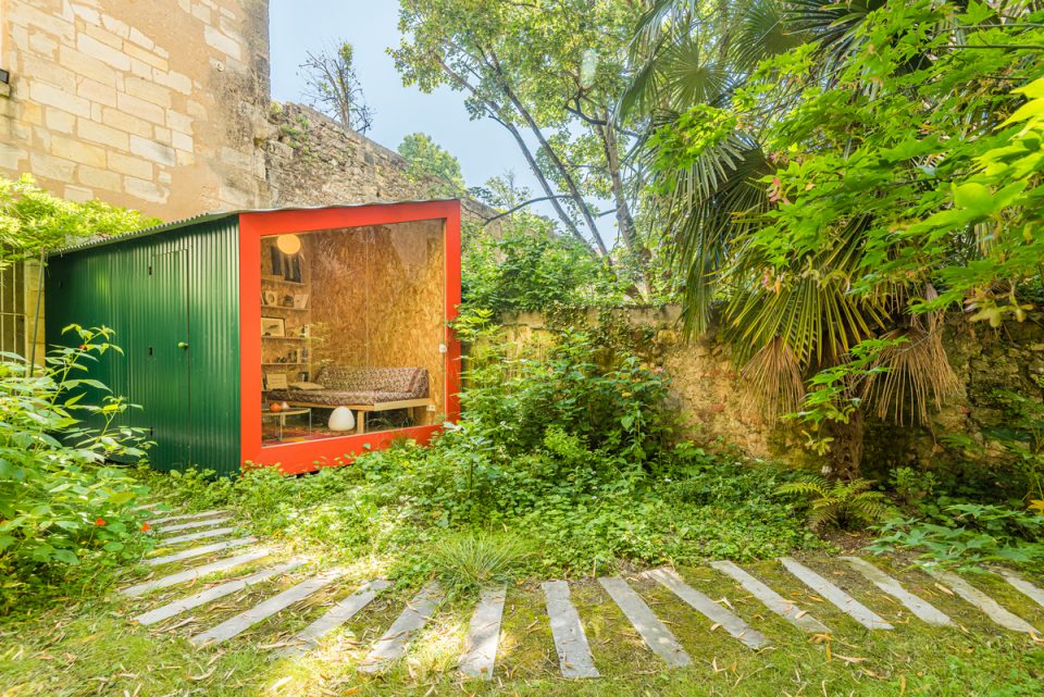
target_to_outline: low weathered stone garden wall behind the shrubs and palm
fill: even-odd
[[[759,458],[799,463],[804,437],[794,424],[772,423],[757,409],[757,399],[746,390],[730,357],[730,349],[710,332],[692,341],[680,331],[676,306],[649,309],[583,310],[563,316],[538,313],[506,316],[509,339],[523,343],[549,340],[560,322],[580,320],[602,333],[614,346],[629,347],[672,378],[671,400],[689,437],[716,438],[734,444]],[[942,451],[940,437],[965,433],[982,441],[983,433],[1002,426],[1005,414],[993,397],[995,389],[1011,389],[1041,398],[1032,375],[1044,376],[1044,314],[1031,313],[1026,322],[993,329],[954,314],[944,326],[944,345],[960,379],[960,391],[932,423],[900,427],[870,421],[866,469],[931,466]],[[987,448],[989,460],[999,451]]]

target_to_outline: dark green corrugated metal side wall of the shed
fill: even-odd
[[[239,470],[238,254],[234,215],[48,262],[48,344],[73,323],[115,329],[123,356],[91,376],[142,407],[127,422],[152,428],[161,470]]]

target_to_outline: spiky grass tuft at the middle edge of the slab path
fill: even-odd
[[[428,561],[450,588],[476,593],[513,580],[531,556],[519,538],[469,531],[436,540]]]

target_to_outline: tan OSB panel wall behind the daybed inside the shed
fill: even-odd
[[[445,252],[442,221],[303,236],[313,262],[313,370],[321,361],[425,368],[436,423],[445,410]]]

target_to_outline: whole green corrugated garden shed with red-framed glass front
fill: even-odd
[[[90,376],[152,464],[343,464],[459,414],[460,202],[207,213],[50,256],[49,344],[108,326]]]

